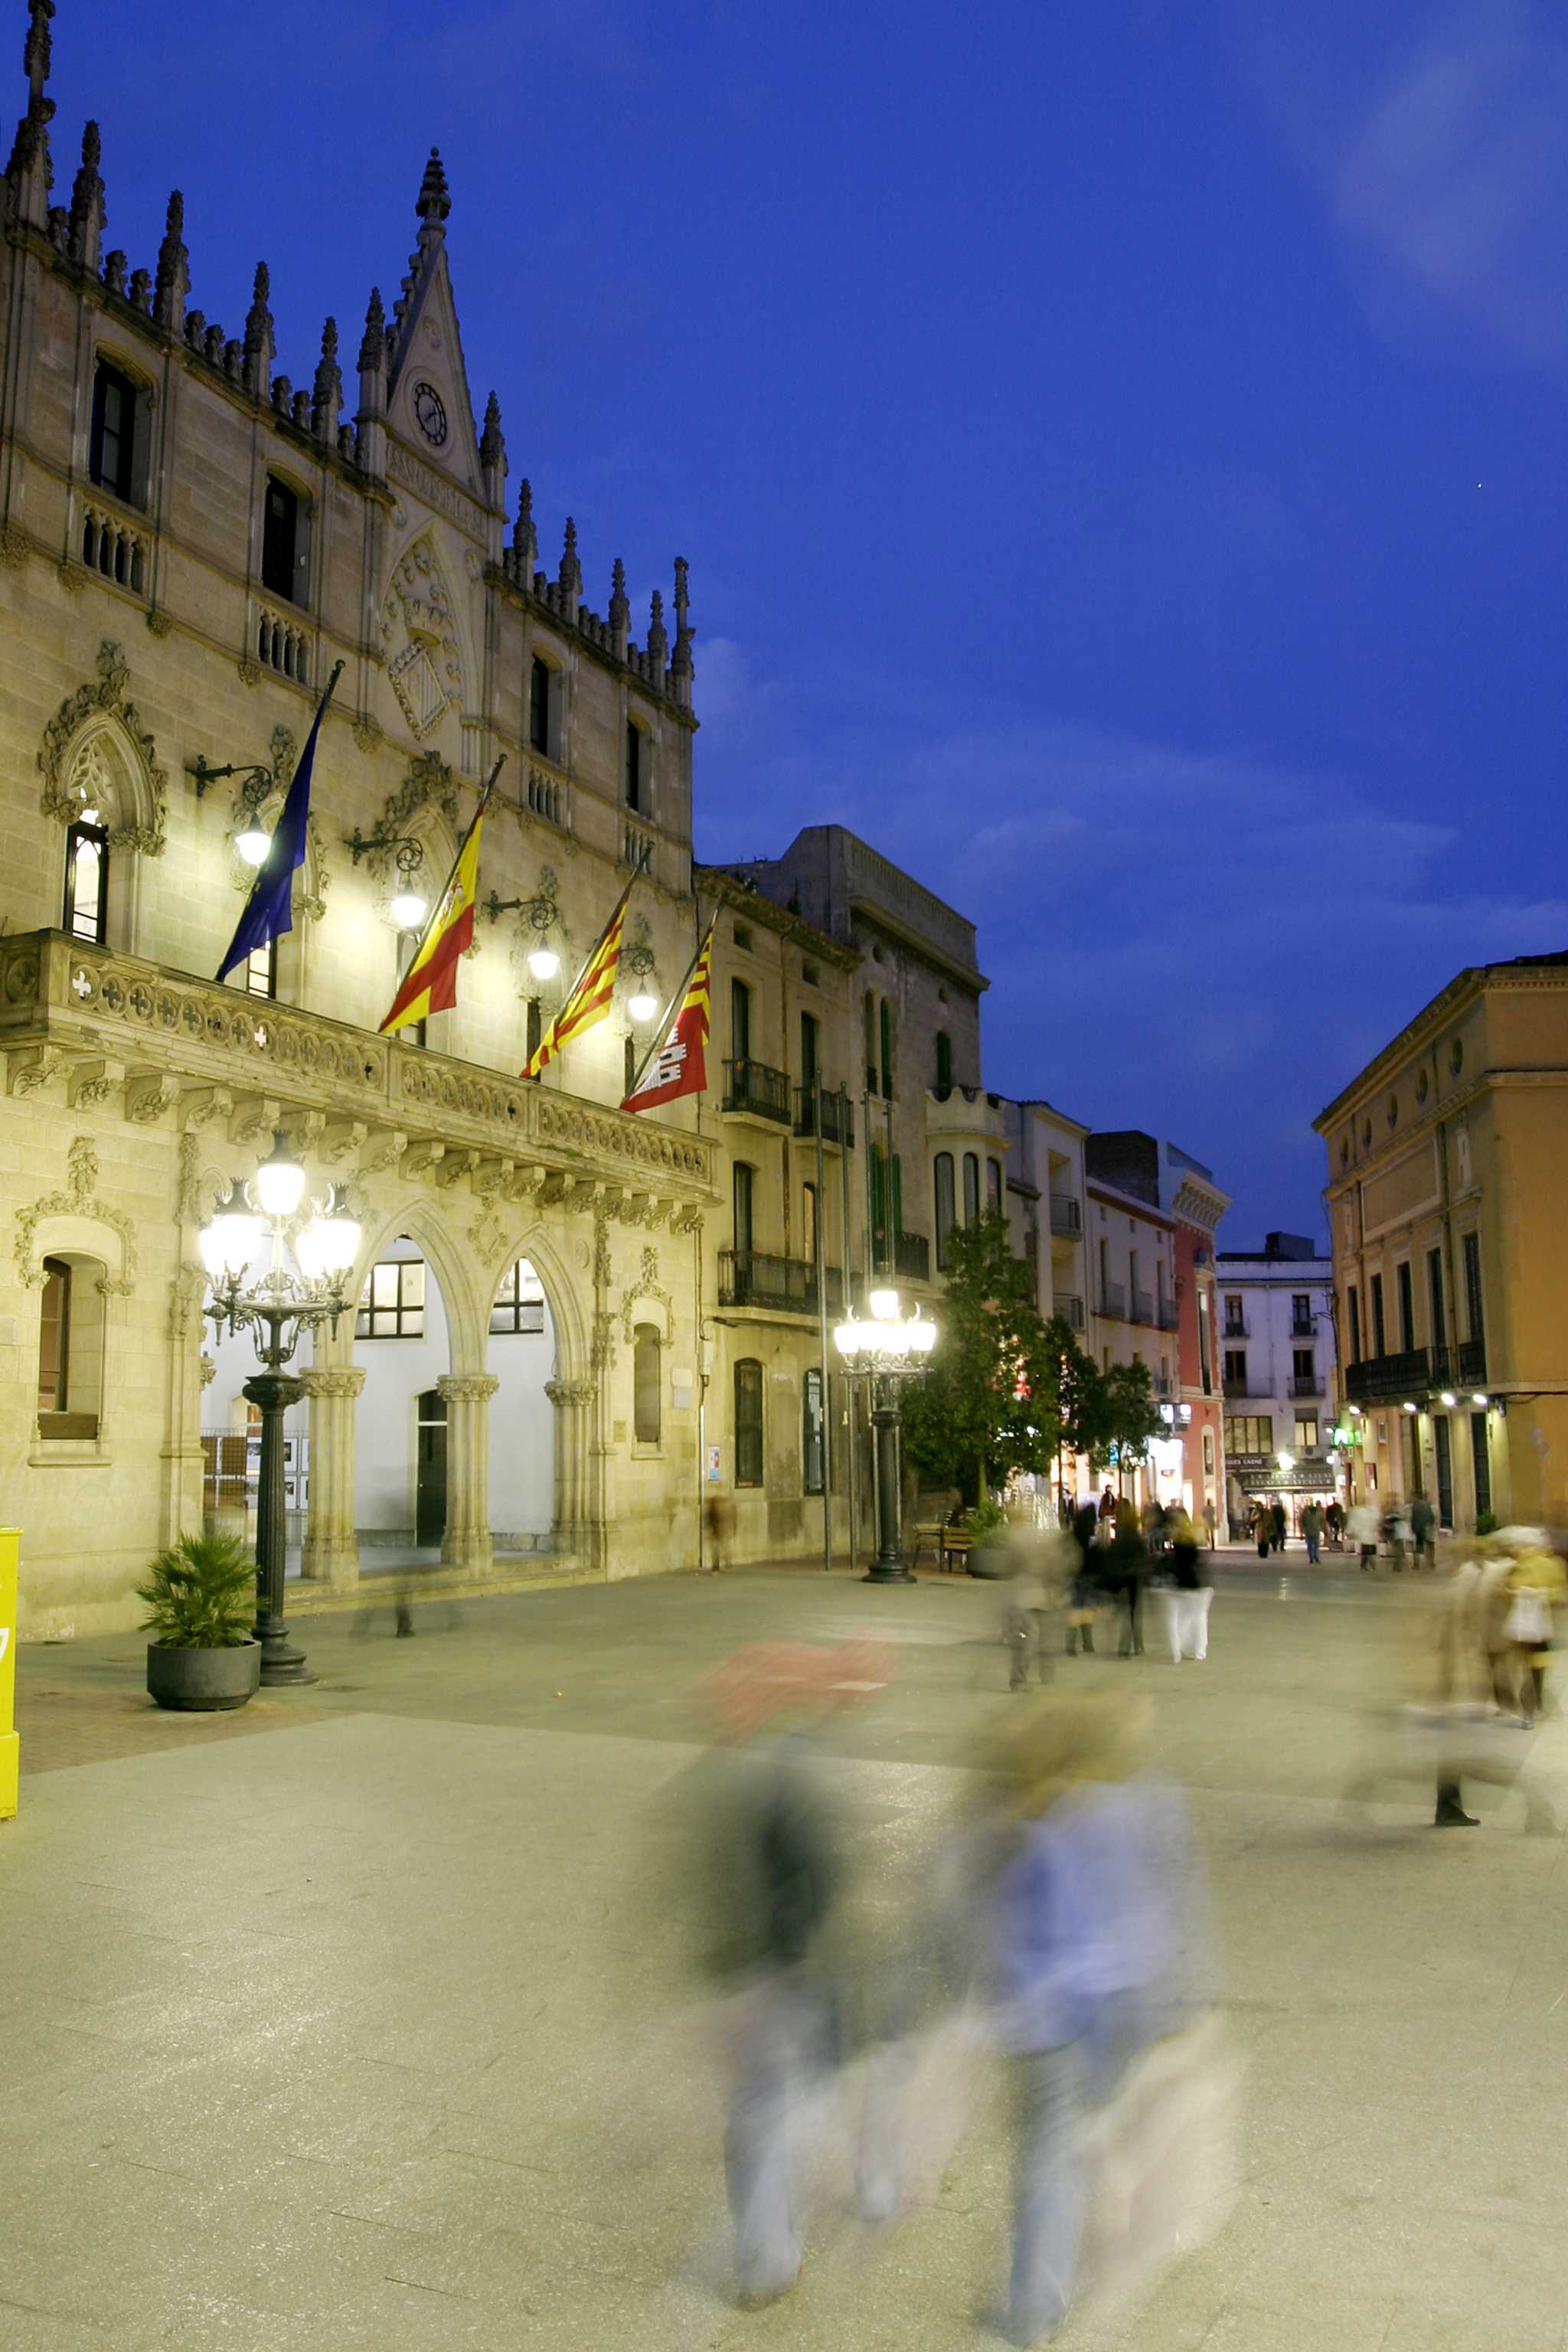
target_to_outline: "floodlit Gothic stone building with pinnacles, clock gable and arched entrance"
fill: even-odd
[[[571,522],[538,567],[527,482],[508,532],[435,155],[348,400],[331,320],[296,390],[266,268],[240,334],[195,308],[179,195],[155,268],[106,249],[96,125],[52,200],[52,14],[31,7],[0,299],[0,1517],[24,1630],[132,1623],[148,1555],[223,1517],[233,1454],[242,1496],[247,1345],[205,1343],[197,1232],[277,1129],[364,1232],[364,1310],[294,1409],[306,1595],[376,1543],[463,1576],[686,1562],[715,1141],[696,1105],[616,1108],[630,990],[663,1002],[696,922],[684,564],[672,637],[654,595],[632,642],[621,567],[599,616]],[[214,985],[237,840],[277,814],[336,666],[294,929]],[[456,1009],[383,1040],[393,901],[440,891],[498,755],[482,894],[512,906],[480,920]],[[632,873],[611,1018],[520,1084]]]

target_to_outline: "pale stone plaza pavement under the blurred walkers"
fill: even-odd
[[[1204,1832],[1246,2176],[1222,2234],[1067,2352],[1561,2352],[1568,1886],[1516,1792],[1342,1788],[1410,1581],[1225,1564],[1157,1703]],[[891,2352],[994,2343],[994,2086],[907,2220],[827,2209],[797,2293],[722,2291],[670,1792],[689,1693],[762,1635],[877,1630],[835,1726],[884,1931],[1006,1708],[997,1599],[752,1571],[313,1618],[320,1682],[186,1724],[134,1639],[21,1653],[0,1825],[0,2345]],[[1521,1733],[1568,1820],[1568,1736]],[[158,1740],[158,1745],[153,1745]],[[38,1769],[49,1762],[52,1769]]]

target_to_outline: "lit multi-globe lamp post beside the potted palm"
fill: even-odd
[[[348,1308],[343,1279],[360,1254],[360,1225],[348,1216],[334,1192],[308,1204],[301,1221],[299,1204],[306,1190],[306,1171],[289,1152],[282,1129],[273,1138],[270,1155],[261,1162],[252,1181],[242,1188],[244,1209],[219,1209],[200,1235],[202,1263],[207,1268],[212,1315],[219,1338],[223,1331],[242,1331],[247,1324],[256,1341],[261,1371],[252,1374],[242,1395],[261,1411],[261,1482],[256,1489],[256,1628],[261,1644],[261,1682],[315,1682],[303,1651],[289,1642],[282,1621],[282,1571],[284,1571],[284,1491],[282,1491],[282,1416],[303,1397],[303,1381],[284,1371],[299,1334],[331,1322]],[[230,1185],[226,1200],[233,1202]],[[273,1237],[273,1263],[259,1282],[247,1287],[244,1277],[263,1244]],[[284,1261],[284,1251],[294,1263]]]

